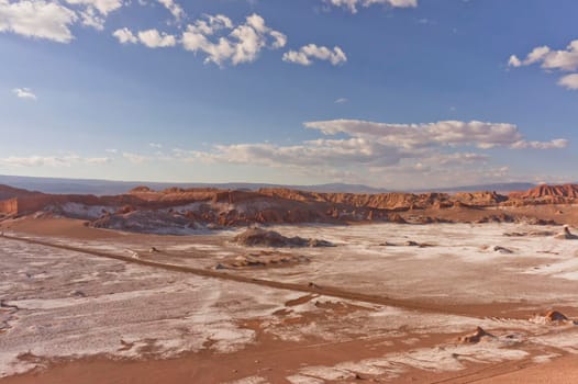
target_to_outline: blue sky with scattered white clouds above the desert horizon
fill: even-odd
[[[578,182],[576,0],[0,0],[0,174]]]

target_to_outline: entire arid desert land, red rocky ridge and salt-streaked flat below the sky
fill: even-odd
[[[2,199],[1,383],[578,382],[578,185]]]

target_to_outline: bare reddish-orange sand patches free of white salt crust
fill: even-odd
[[[548,218],[559,217],[555,206],[531,206],[512,208],[518,212],[532,212]],[[525,210],[525,211],[524,211]],[[565,210],[564,219],[576,219],[576,210]],[[440,212],[440,211],[438,211]],[[444,212],[452,212],[451,210]],[[480,214],[481,211],[454,210],[454,214]],[[487,214],[487,213],[483,213]],[[468,216],[469,217],[469,216]],[[146,235],[124,235],[112,230],[89,228],[82,221],[64,218],[25,218],[0,223],[0,230],[31,234],[35,236],[69,237],[77,239],[105,239],[130,236],[133,239],[145,238]],[[305,290],[307,291],[307,290]],[[314,293],[314,290],[312,290]],[[325,293],[325,292],[324,292]],[[329,292],[331,293],[331,292]],[[286,303],[287,306],[302,304],[313,300],[314,294],[304,295],[296,301]],[[351,298],[364,298],[360,295]],[[490,316],[507,314],[510,317],[527,318],[529,313],[507,313],[509,304],[494,303],[477,306],[444,306],[436,307],[435,303],[394,303],[422,310],[442,310],[443,313],[468,314],[473,316]],[[335,308],[340,315],[351,308]],[[575,315],[576,308],[560,308],[567,315]],[[282,315],[282,314],[280,314]],[[304,318],[302,321],[315,320]],[[319,320],[319,319],[316,319]],[[308,365],[333,365],[348,360],[373,358],[378,354],[407,350],[408,346],[401,340],[389,338],[355,340],[319,345],[315,340],[288,342],[275,340],[270,335],[260,330],[259,323],[243,324],[244,327],[257,332],[257,342],[240,352],[216,354],[210,351],[190,353],[170,360],[140,360],[113,361],[105,358],[91,358],[77,361],[60,361],[48,364],[46,370],[30,372],[23,375],[5,377],[0,382],[7,384],[30,383],[220,383],[238,380],[252,375],[266,377],[271,383],[286,383],[286,376]],[[453,342],[462,335],[429,335],[429,338],[412,346],[422,348]],[[407,338],[407,337],[405,337]],[[384,341],[392,341],[392,346],[385,346]],[[364,377],[362,377],[364,379]],[[385,379],[384,379],[385,381]],[[578,357],[566,355],[549,363],[536,365],[530,360],[473,365],[459,372],[434,373],[412,370],[403,376],[392,380],[396,383],[578,383]]]

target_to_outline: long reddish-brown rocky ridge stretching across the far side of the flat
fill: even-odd
[[[578,201],[578,185],[541,185],[509,196],[496,192],[456,193],[319,193],[289,189],[231,191],[211,188],[171,188],[153,191],[138,187],[113,196],[44,194],[0,185],[0,214],[36,211],[87,219],[93,226],[154,231],[158,228],[215,228],[262,224],[397,222],[422,215],[434,223],[442,212],[471,211],[502,205]],[[441,211],[445,210],[445,211]],[[479,210],[478,210],[479,211]],[[400,216],[404,215],[403,217]],[[415,222],[415,219],[413,221]]]

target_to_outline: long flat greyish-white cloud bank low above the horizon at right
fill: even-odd
[[[504,123],[387,124],[337,120],[304,125],[323,136],[296,145],[244,143],[216,145],[208,150],[175,149],[173,158],[182,162],[285,168],[333,180],[347,174],[357,174],[365,182],[375,181],[375,174],[401,177],[415,179],[423,187],[425,180],[436,184],[453,180],[455,184],[456,178],[460,182],[503,179],[509,169],[491,165],[490,155],[483,149],[556,149],[568,145],[565,139],[529,142],[515,125]],[[329,135],[338,137],[327,138]],[[420,178],[413,178],[416,174]]]

